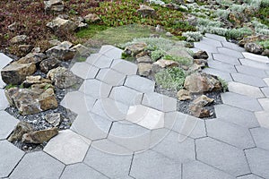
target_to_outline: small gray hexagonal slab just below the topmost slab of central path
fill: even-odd
[[[112,64],[113,58],[108,57],[107,55],[102,54],[91,54],[86,63],[92,64],[98,68],[109,68]]]

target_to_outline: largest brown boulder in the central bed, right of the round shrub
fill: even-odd
[[[221,82],[217,80],[217,77],[206,73],[192,73],[187,76],[184,88],[191,93],[222,90]]]

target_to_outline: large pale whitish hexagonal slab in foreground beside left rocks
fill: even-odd
[[[71,130],[60,131],[48,141],[44,151],[66,165],[82,162],[91,141]]]

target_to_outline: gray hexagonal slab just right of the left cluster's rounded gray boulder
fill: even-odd
[[[85,62],[75,63],[71,68],[71,72],[74,72],[75,75],[81,77],[84,80],[94,79],[99,70],[100,69],[98,67],[91,64],[87,64]]]

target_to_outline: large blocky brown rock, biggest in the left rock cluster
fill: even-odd
[[[54,90],[18,89],[5,90],[10,105],[16,107],[21,115],[37,114],[41,111],[58,107]]]

